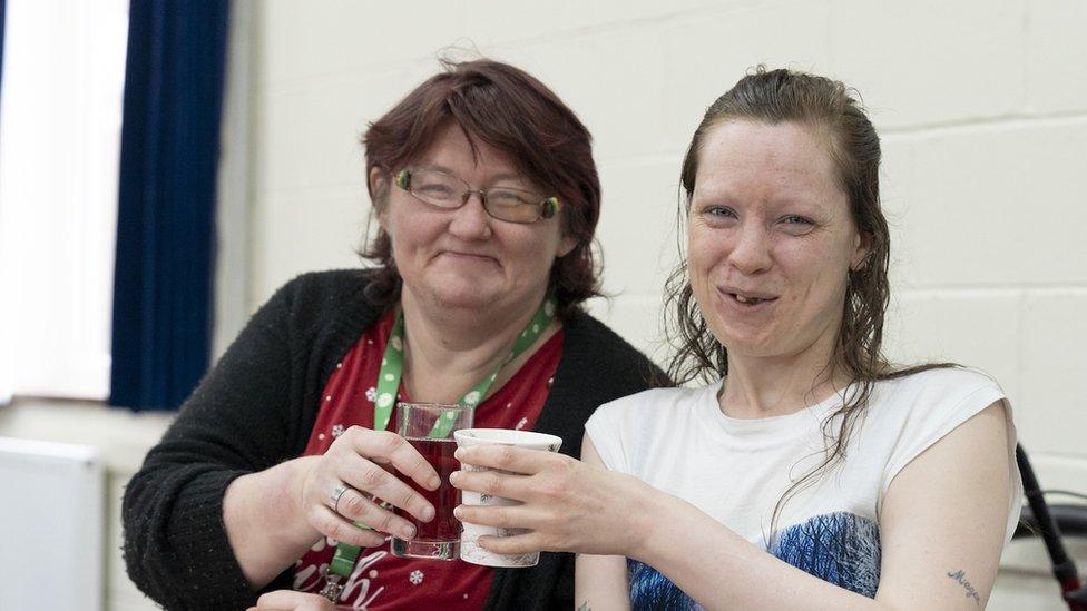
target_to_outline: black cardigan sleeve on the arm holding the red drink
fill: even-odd
[[[223,496],[235,477],[288,459],[297,435],[290,414],[298,355],[288,341],[296,285],[253,316],[125,490],[128,574],[167,609],[255,601],[227,541]]]

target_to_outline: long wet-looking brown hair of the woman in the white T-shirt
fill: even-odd
[[[680,224],[695,190],[703,142],[714,127],[729,120],[803,125],[826,138],[839,186],[849,200],[850,215],[858,231],[870,240],[870,252],[863,265],[848,272],[842,323],[834,354],[826,365],[826,371],[843,371],[851,382],[845,388],[842,406],[823,422],[826,449],[822,461],[794,481],[778,500],[771,533],[784,503],[845,457],[853,427],[868,407],[875,382],[954,366],[931,363],[895,367],[882,353],[883,317],[890,299],[890,231],[880,206],[880,137],[859,98],[840,81],[760,66],[706,110],[683,160],[680,184],[686,197],[680,203]],[[728,353],[709,333],[691,288],[686,260],[680,258],[665,288],[669,336],[676,344],[668,374],[677,384],[728,373]],[[816,382],[813,381],[813,387]],[[839,420],[834,431],[833,423]]]

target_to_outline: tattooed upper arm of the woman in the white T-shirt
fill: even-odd
[[[982,609],[1008,520],[1002,401],[933,444],[891,482],[877,600],[910,609]]]

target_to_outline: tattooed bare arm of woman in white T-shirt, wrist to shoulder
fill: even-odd
[[[1007,522],[1006,433],[1003,408],[993,404],[894,479],[880,519],[875,600],[786,564],[679,500],[666,504],[673,518],[638,553],[707,609],[980,609]],[[962,580],[953,576],[960,571]]]

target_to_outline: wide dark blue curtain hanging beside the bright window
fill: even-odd
[[[131,0],[110,404],[176,408],[208,365],[227,0]]]

